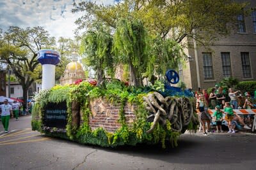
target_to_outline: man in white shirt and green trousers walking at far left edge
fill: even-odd
[[[1,104],[1,119],[4,127],[4,132],[8,133],[9,120],[12,115],[12,106],[8,103],[8,99],[4,100],[4,104]]]

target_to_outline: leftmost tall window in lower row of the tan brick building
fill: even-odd
[[[204,60],[204,79],[213,78],[213,69],[212,69],[212,55],[211,53],[203,53]]]

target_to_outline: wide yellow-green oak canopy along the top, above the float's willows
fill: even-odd
[[[90,26],[92,20],[116,27],[119,18],[132,17],[142,20],[151,34],[162,38],[169,36],[180,43],[186,37],[196,37],[208,43],[232,32],[236,16],[248,14],[247,4],[233,0],[124,0],[109,5],[74,1],[72,11],[84,11],[83,17],[77,19],[79,29]]]

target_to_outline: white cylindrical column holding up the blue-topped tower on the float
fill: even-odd
[[[42,90],[51,89],[55,85],[55,66],[52,64],[42,65]]]

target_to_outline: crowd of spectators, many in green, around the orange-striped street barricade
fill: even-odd
[[[232,134],[236,133],[236,127],[238,129],[241,129],[241,126],[244,129],[252,127],[254,114],[238,115],[233,111],[234,109],[253,109],[255,107],[248,92],[245,92],[243,96],[240,90],[234,91],[230,88],[227,93],[222,87],[216,85],[208,94],[207,90],[198,88],[198,91],[195,92],[195,101],[200,121],[199,131],[202,131],[204,135],[213,132],[211,125],[216,125],[216,132],[224,132],[221,127],[227,125],[228,133]],[[212,115],[209,114],[209,109],[215,110]],[[244,122],[248,122],[248,125]],[[205,125],[207,125],[207,130]]]

